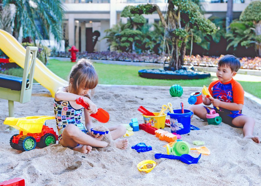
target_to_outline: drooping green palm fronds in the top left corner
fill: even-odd
[[[13,36],[18,38],[22,28],[23,37],[31,37],[32,40],[49,39],[49,33],[55,40],[62,40],[62,19],[64,9],[59,0],[0,0],[3,7],[9,4],[15,5]],[[42,29],[40,30],[39,27]]]

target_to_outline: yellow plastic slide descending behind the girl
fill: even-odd
[[[0,29],[0,49],[20,67],[24,67],[26,49],[8,32]],[[52,97],[60,86],[68,82],[50,71],[38,58],[35,64],[34,79],[48,89]]]

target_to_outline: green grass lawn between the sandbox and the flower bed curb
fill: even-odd
[[[68,80],[71,67],[75,63],[69,61],[50,60],[47,67],[57,74],[59,77]],[[217,80],[216,76],[200,80],[157,80],[139,77],[138,70],[152,69],[155,67],[137,67],[125,65],[109,65],[102,63],[94,63],[95,69],[99,76],[99,84],[120,84],[120,85],[153,85],[153,86],[171,86],[180,84],[181,86],[208,86],[213,80]],[[23,75],[22,69],[10,69],[10,75]],[[17,72],[16,72],[17,71]],[[239,81],[244,90],[261,98],[261,82],[245,82]]]

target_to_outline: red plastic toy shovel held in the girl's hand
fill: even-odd
[[[89,105],[87,103],[85,103],[81,97],[79,97],[76,100],[76,103],[83,106],[86,109],[89,109]],[[102,123],[107,123],[110,119],[109,113],[106,112],[105,110],[103,110],[102,108],[98,108],[97,113],[91,114],[90,116],[94,117],[95,119],[97,119],[99,122],[102,122]]]

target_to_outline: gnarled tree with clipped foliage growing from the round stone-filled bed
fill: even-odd
[[[196,2],[196,1],[195,1]],[[206,19],[200,12],[200,7],[192,0],[168,0],[168,10],[163,16],[156,4],[143,4],[128,6],[124,9],[122,16],[132,17],[134,15],[152,14],[157,11],[163,27],[166,29],[166,40],[171,42],[170,67],[180,69],[183,65],[183,58],[186,52],[186,43],[192,36],[193,28],[211,34],[215,33],[217,27],[210,20]],[[199,38],[196,38],[199,41]]]

